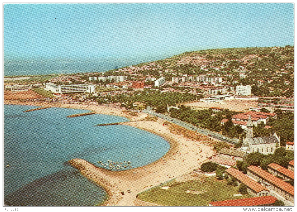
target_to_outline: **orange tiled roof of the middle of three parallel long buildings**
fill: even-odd
[[[291,186],[289,183],[282,181],[281,179],[277,178],[276,176],[264,171],[263,169],[256,167],[256,166],[249,166],[247,167],[248,170],[251,172],[259,175],[264,180],[268,181],[271,184],[279,187],[280,189],[292,194],[294,196],[294,186]]]

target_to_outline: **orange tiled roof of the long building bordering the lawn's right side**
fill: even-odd
[[[226,172],[228,174],[232,175],[233,177],[235,177],[237,180],[244,183],[247,187],[249,187],[250,189],[254,190],[257,193],[259,193],[260,191],[263,191],[263,190],[268,191],[268,189],[266,189],[264,186],[260,185],[256,181],[252,180],[247,175],[238,171],[237,169],[229,168],[229,169],[226,169]]]

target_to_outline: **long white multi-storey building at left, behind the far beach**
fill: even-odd
[[[44,83],[45,90],[53,93],[95,93],[95,85],[75,84],[75,85],[55,85],[54,83]]]

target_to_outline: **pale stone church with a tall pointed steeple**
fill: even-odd
[[[274,134],[267,137],[253,137],[253,123],[251,116],[247,121],[246,138],[242,141],[241,151],[252,153],[260,152],[261,154],[273,154],[276,148],[280,146],[280,137],[274,131]]]

